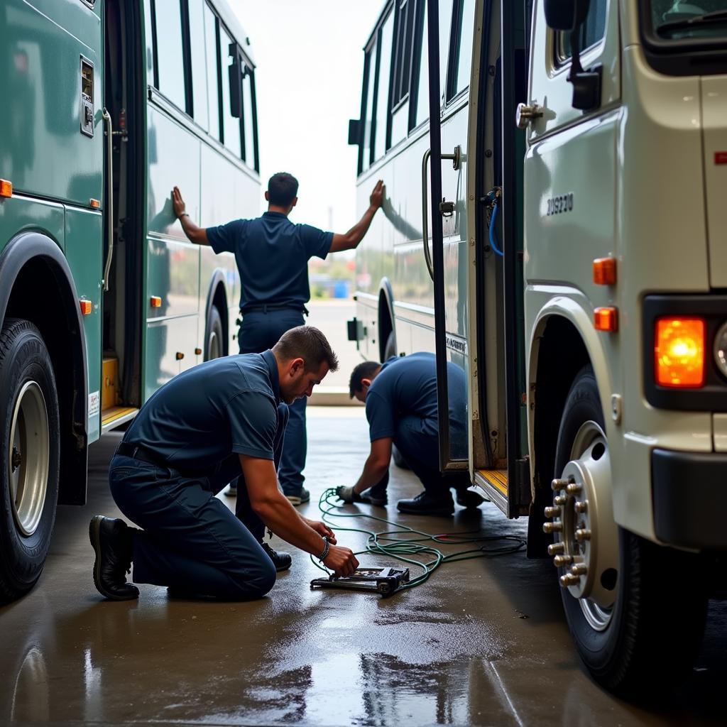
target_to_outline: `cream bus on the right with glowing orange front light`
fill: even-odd
[[[358,205],[387,189],[349,337],[436,353],[442,471],[528,516],[579,656],[623,694],[686,674],[727,593],[726,17],[390,0],[349,126]]]

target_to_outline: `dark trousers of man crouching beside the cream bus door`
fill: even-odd
[[[422,481],[425,491],[436,499],[451,497],[449,488],[469,485],[469,475],[442,475],[439,470],[439,433],[436,419],[407,414],[396,422],[394,445],[409,469]],[[382,493],[389,483],[389,473],[375,485]]]

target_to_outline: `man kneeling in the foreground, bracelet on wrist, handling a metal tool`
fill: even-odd
[[[270,350],[226,356],[185,371],[137,414],[111,460],[111,494],[124,515],[97,515],[89,534],[94,582],[116,601],[133,580],[217,598],[259,598],[290,555],[262,544],[265,526],[350,575],[358,561],[324,523],[298,515],[278,489],[287,404],[310,396],[336,355],[318,329],[299,326]],[[238,476],[236,515],[214,497]]]

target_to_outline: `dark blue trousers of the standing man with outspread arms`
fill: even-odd
[[[238,336],[240,353],[262,353],[273,348],[280,337],[296,326],[305,323],[298,310],[256,310],[246,313]],[[305,433],[305,396],[289,406],[290,416],[285,430],[283,456],[278,470],[278,480],[286,495],[299,495],[303,486],[305,455],[308,437]]]

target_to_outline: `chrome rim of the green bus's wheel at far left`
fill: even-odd
[[[20,534],[30,537],[43,515],[50,464],[48,411],[41,387],[25,382],[15,400],[8,451],[10,503]]]

